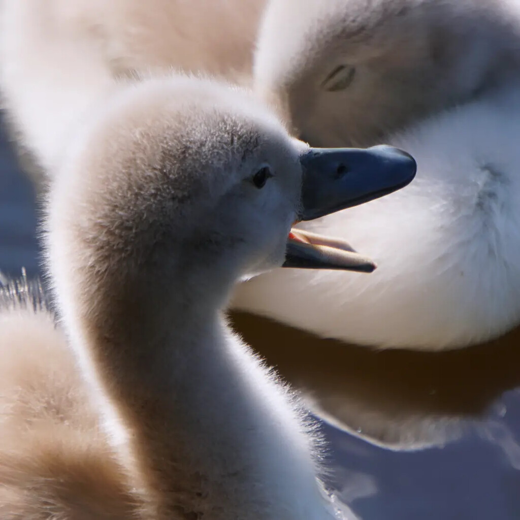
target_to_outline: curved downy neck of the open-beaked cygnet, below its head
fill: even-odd
[[[228,287],[199,305],[189,279],[105,277],[60,298],[145,517],[330,519],[297,402],[228,329]]]

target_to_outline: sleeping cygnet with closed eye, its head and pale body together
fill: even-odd
[[[243,285],[236,307],[376,347],[461,347],[515,327],[518,6],[307,2],[300,25],[280,31],[294,5],[268,7],[258,92],[316,146],[404,147],[418,180],[302,225],[348,235],[378,263],[372,277],[274,272]],[[301,298],[289,308],[293,290]]]

